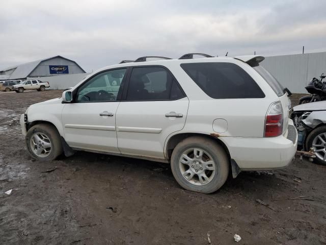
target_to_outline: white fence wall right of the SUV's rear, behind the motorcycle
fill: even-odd
[[[270,56],[261,65],[292,93],[307,93],[309,81],[326,73],[326,52]]]

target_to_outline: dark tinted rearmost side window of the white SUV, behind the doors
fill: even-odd
[[[181,64],[186,74],[213,99],[263,98],[265,94],[252,77],[233,63]]]

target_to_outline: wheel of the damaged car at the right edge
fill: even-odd
[[[306,148],[314,149],[316,154],[315,162],[326,165],[326,126],[321,126],[313,131],[307,137]]]

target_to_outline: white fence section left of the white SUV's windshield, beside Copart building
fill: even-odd
[[[49,82],[50,89],[66,89],[75,86],[77,83],[82,81],[90,73],[82,74],[71,74],[71,75],[61,75],[61,76],[50,76],[37,78],[42,82]],[[35,78],[28,78],[35,79]]]

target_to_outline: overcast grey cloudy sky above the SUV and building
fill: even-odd
[[[92,71],[146,55],[323,52],[325,10],[325,0],[2,1],[0,68],[56,55]]]

